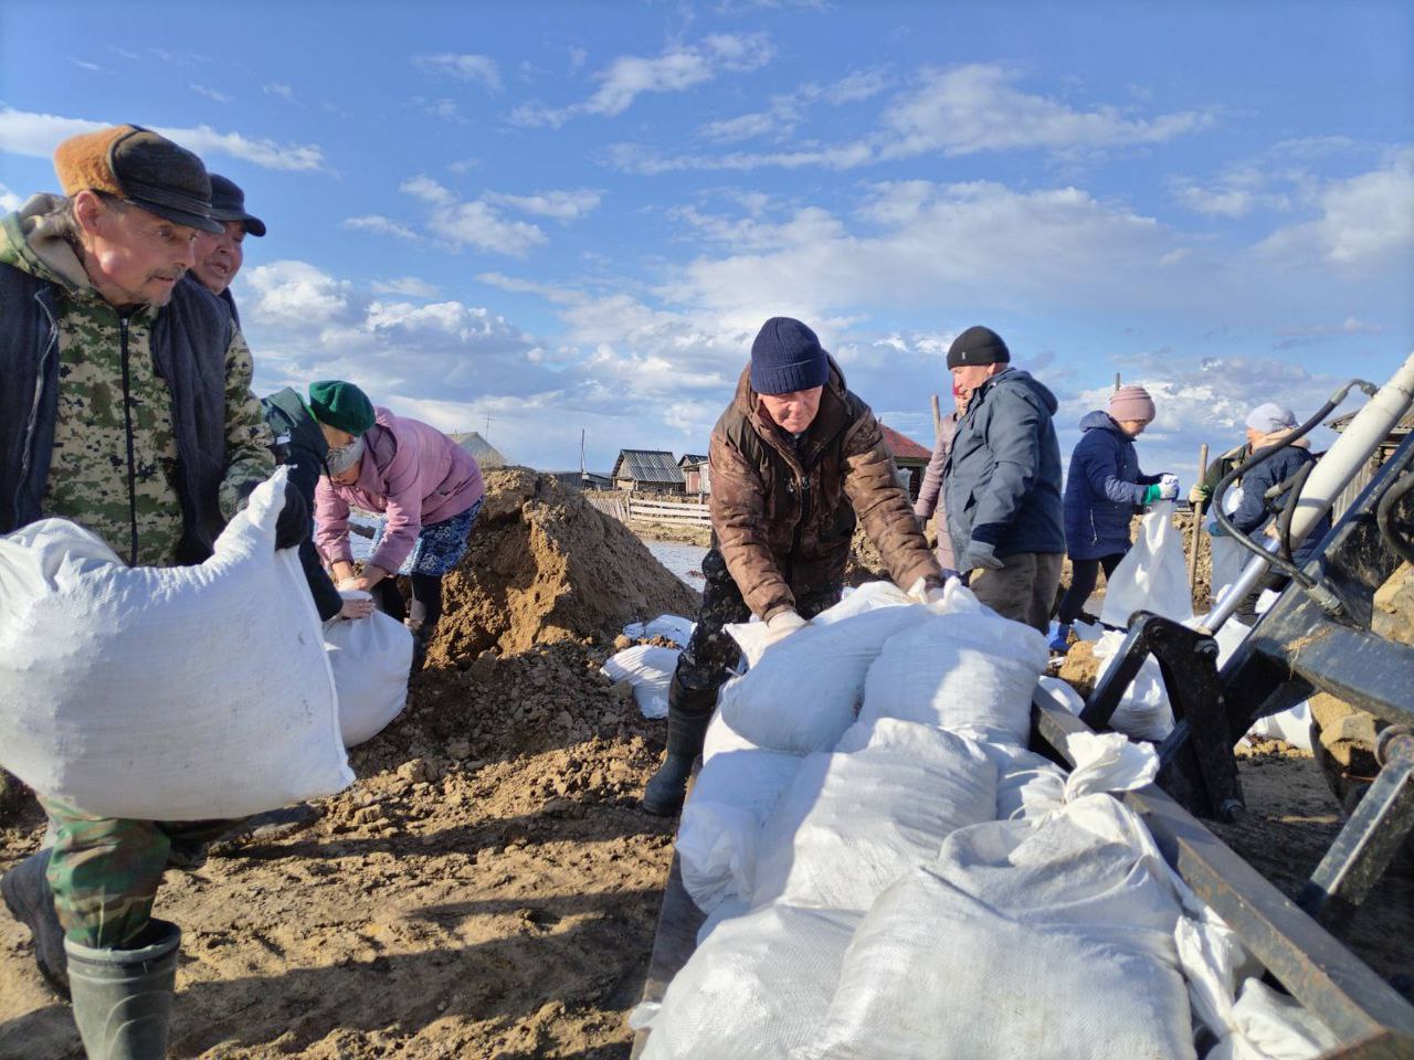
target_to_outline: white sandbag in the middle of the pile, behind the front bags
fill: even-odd
[[[766,817],[752,903],[865,910],[956,828],[997,811],[997,767],[945,729],[882,718],[807,756]]]

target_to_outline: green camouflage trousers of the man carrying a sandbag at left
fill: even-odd
[[[64,934],[99,950],[130,948],[153,916],[168,864],[191,865],[230,821],[126,821],[42,800],[54,832],[48,882]]]

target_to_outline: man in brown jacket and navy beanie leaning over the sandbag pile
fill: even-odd
[[[874,413],[800,321],[772,317],[711,434],[713,547],[697,629],[667,693],[667,756],[643,808],[677,813],[693,760],[737,664],[728,623],[761,616],[772,639],[836,603],[855,520],[894,581],[925,598],[942,571],[899,486]]]

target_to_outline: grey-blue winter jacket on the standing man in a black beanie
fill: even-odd
[[[957,557],[973,540],[998,558],[1065,551],[1055,410],[1055,394],[1015,367],[973,391],[943,468]]]

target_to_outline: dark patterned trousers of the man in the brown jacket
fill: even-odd
[[[751,620],[751,608],[715,548],[703,557],[703,575],[707,585],[697,612],[697,628],[677,657],[667,693],[667,746],[674,753],[696,755],[701,750],[701,734],[717,707],[717,693],[741,659],[737,642],[725,628]],[[812,619],[839,603],[843,591],[841,574],[837,581],[799,594],[796,611],[802,618]]]

